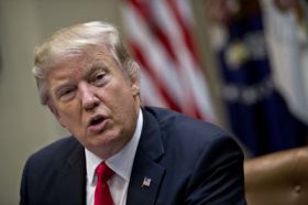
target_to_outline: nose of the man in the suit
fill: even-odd
[[[79,91],[80,91],[81,106],[85,110],[91,110],[99,105],[99,98],[91,90],[90,85],[80,84]]]

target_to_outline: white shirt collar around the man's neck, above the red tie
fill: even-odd
[[[138,117],[136,129],[133,134],[133,138],[129,141],[129,143],[120,150],[117,154],[109,158],[106,161],[106,164],[113,170],[120,177],[125,181],[130,180],[133,161],[138,148],[138,143],[141,137],[141,130],[143,125],[143,115],[142,110],[140,109]],[[87,169],[87,180],[90,183],[94,183],[95,170],[100,164],[103,159],[98,158],[96,154],[90,152],[88,149],[85,148],[86,154],[86,169]]]

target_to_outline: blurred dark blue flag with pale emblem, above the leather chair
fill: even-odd
[[[252,155],[304,145],[307,130],[273,80],[261,14],[231,20],[217,53],[231,129]]]

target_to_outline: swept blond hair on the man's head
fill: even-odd
[[[58,30],[35,48],[32,72],[42,105],[46,105],[50,99],[45,79],[52,65],[59,58],[81,54],[90,45],[97,45],[110,52],[129,79],[135,80],[140,77],[139,65],[129,55],[116,26],[100,21],[72,25]]]

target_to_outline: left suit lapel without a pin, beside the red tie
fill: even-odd
[[[59,170],[57,196],[61,205],[86,203],[86,165],[84,148],[77,142]]]

